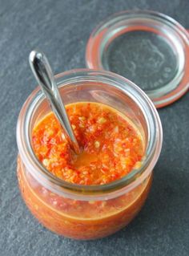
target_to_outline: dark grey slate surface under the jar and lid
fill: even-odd
[[[127,9],[159,10],[189,27],[188,0],[0,1],[0,255],[189,254],[189,94],[159,110],[163,151],[151,194],[135,221],[119,233],[94,242],[58,237],[31,216],[18,191],[15,128],[35,87],[29,52],[45,51],[54,73],[85,67],[90,31],[109,14]]]

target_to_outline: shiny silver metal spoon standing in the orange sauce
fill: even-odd
[[[70,144],[70,148],[78,154],[80,152],[78,141],[76,140],[71,128],[66,108],[62,102],[61,95],[59,94],[58,87],[46,55],[44,55],[42,51],[31,51],[29,63],[35,79],[42,88],[54,115],[61,124],[66,140]]]

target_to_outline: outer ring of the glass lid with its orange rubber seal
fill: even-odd
[[[120,35],[136,30],[157,33],[170,41],[169,47],[175,53],[176,71],[171,80],[145,91],[156,108],[163,108],[179,100],[189,88],[189,33],[174,18],[154,10],[124,10],[112,14],[90,34],[86,45],[86,67],[109,70],[108,65],[103,65],[107,48]]]

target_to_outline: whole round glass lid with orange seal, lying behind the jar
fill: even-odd
[[[161,108],[189,88],[189,34],[154,11],[114,14],[90,35],[86,66],[125,76]]]

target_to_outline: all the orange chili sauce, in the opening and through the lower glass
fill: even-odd
[[[66,106],[80,155],[70,150],[52,113],[32,132],[38,160],[54,176],[79,185],[103,185],[139,168],[144,153],[143,137],[126,116],[104,104]],[[22,197],[44,226],[76,239],[103,238],[126,226],[139,212],[151,185],[151,177],[123,196],[107,201],[78,201],[59,196],[24,172],[18,158]]]

